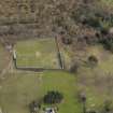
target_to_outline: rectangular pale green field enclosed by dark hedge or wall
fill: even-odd
[[[20,41],[15,45],[18,67],[59,69],[55,39]]]

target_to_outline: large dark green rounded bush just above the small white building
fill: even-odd
[[[44,96],[43,101],[44,103],[53,104],[53,103],[60,103],[62,99],[63,99],[62,94],[58,91],[48,91]]]

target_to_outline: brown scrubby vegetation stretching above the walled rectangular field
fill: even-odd
[[[87,36],[94,41],[96,32],[107,33],[113,25],[112,5],[108,8],[108,3],[112,0],[0,1],[0,24],[5,25],[0,27],[0,34],[8,42],[55,34],[65,36],[66,44],[76,44],[81,38],[85,41]]]

